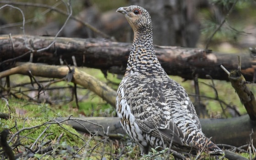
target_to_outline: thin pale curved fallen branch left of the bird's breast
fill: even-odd
[[[27,71],[34,76],[46,77],[46,78],[65,78],[69,75],[70,80],[75,84],[81,85],[94,93],[100,96],[103,100],[110,103],[113,107],[115,107],[116,103],[116,91],[114,91],[111,87],[107,86],[107,84],[97,80],[95,77],[86,74],[83,71],[75,68],[69,70],[67,66],[53,66],[53,65],[45,65],[45,64],[34,64],[34,63],[21,63],[17,62],[14,64],[14,68],[5,70],[0,72],[0,79],[6,76],[21,74],[21,75],[29,75]]]

